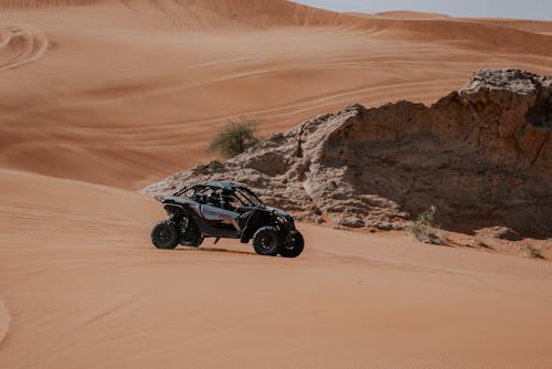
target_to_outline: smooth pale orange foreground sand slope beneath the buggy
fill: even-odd
[[[160,252],[148,198],[0,178],[1,368],[552,365],[548,262],[306,224],[294,261],[224,241]]]

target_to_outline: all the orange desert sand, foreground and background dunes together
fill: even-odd
[[[297,260],[155,250],[137,190],[229,119],[552,74],[552,22],[280,0],[0,1],[0,368],[550,368],[552,264],[300,224]]]

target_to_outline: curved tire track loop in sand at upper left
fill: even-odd
[[[0,71],[39,60],[47,45],[46,35],[32,27],[0,24]]]

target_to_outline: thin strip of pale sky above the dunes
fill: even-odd
[[[470,18],[552,20],[552,0],[294,0],[335,11],[413,10]]]

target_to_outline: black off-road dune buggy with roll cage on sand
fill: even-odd
[[[267,207],[250,189],[230,182],[184,187],[172,196],[158,198],[168,220],[151,230],[158,249],[178,244],[198,247],[205,238],[253,240],[261,255],[297,257],[305,247],[302,235],[286,212]]]

